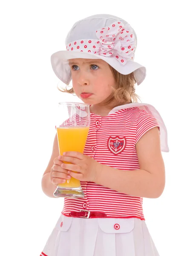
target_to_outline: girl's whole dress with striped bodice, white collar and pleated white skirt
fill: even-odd
[[[167,131],[149,104],[130,103],[108,116],[91,113],[84,154],[98,162],[133,171],[140,169],[135,145],[153,127],[160,131],[161,151],[169,152]],[[81,182],[84,198],[65,198],[64,208],[40,256],[159,256],[143,215],[143,198]],[[74,218],[69,212],[105,212],[106,218]]]

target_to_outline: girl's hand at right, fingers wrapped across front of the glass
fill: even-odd
[[[69,162],[61,165],[63,169],[69,170],[69,175],[80,181],[95,182],[97,172],[100,172],[103,166],[101,163],[97,162],[92,157],[77,151],[68,151],[64,153],[65,156],[59,156],[58,159]]]

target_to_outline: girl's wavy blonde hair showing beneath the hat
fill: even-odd
[[[114,76],[115,87],[112,87],[113,91],[111,95],[105,100],[104,105],[107,105],[112,101],[117,102],[114,106],[111,107],[112,109],[120,105],[125,105],[132,102],[138,102],[137,99],[140,100],[140,97],[135,93],[136,80],[134,77],[134,72],[128,75],[123,75],[119,73],[117,70],[115,70],[113,67],[111,67],[110,65],[109,67]],[[63,93],[74,94],[73,87],[68,90],[67,86],[65,89],[59,88],[57,86],[57,89]]]

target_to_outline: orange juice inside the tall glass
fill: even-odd
[[[89,133],[89,127],[75,126],[75,127],[58,127],[57,139],[59,145],[60,155],[66,151],[78,151],[83,154],[86,139]],[[68,163],[65,162],[64,163]],[[66,180],[65,183],[60,183],[58,186],[66,188],[80,187],[80,180],[74,179]]]

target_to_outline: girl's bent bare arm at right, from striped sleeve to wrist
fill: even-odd
[[[136,143],[140,169],[124,171],[102,165],[95,183],[128,195],[158,198],[165,186],[165,166],[157,127],[147,131]]]

